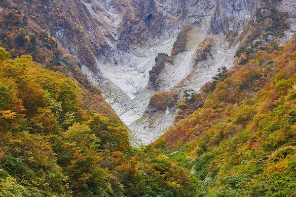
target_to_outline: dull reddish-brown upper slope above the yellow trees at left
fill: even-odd
[[[85,109],[91,108],[92,103],[97,103],[97,106],[93,106],[96,107],[97,113],[116,116],[110,105],[101,97],[100,89],[93,86],[81,72],[81,64],[68,54],[54,37],[34,26],[19,7],[9,7],[0,11],[0,44],[10,53],[11,58],[31,55],[34,61],[47,69],[60,71],[67,77],[74,78],[87,92],[79,95]]]

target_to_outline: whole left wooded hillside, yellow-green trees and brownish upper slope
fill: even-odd
[[[194,196],[189,170],[130,146],[54,38],[17,7],[0,13],[0,197]]]

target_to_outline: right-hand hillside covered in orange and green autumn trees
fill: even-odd
[[[274,31],[285,25],[273,22]],[[199,179],[200,196],[296,195],[296,35],[279,41],[241,53],[198,96],[186,95],[180,105],[192,112],[179,111],[183,119],[154,143]]]

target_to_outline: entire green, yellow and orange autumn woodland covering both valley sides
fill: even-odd
[[[257,14],[231,70],[178,103],[155,95],[156,108],[178,106],[176,122],[133,148],[79,63],[19,8],[2,10],[0,197],[295,196],[296,36],[253,44],[288,28],[275,9]]]

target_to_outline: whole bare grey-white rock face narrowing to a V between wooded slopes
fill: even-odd
[[[174,121],[174,107],[151,110],[152,95],[199,91],[218,68],[233,65],[245,24],[269,0],[12,0],[31,20],[48,30],[82,63],[87,77],[140,143],[157,139]],[[294,6],[294,8],[293,8]],[[294,0],[278,2],[289,12],[295,31]],[[157,75],[158,88],[148,86],[158,53],[171,55],[182,27],[190,25],[185,51],[166,61]],[[294,30],[293,30],[294,29]],[[213,40],[206,53],[198,46]],[[196,64],[196,55],[203,58]],[[206,57],[205,57],[206,56]],[[147,108],[148,107],[148,108]],[[146,110],[146,113],[145,113]],[[149,113],[148,113],[149,111]]]

